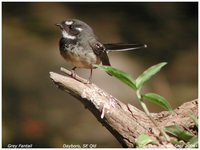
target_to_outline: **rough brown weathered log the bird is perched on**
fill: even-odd
[[[135,147],[135,140],[141,133],[146,133],[158,141],[157,144],[148,144],[146,147],[174,147],[165,140],[158,140],[161,134],[144,112],[130,104],[124,104],[95,84],[88,84],[87,80],[77,75],[76,79],[72,78],[71,72],[64,68],[61,68],[61,71],[68,76],[50,72],[50,78],[60,89],[80,100],[113,134],[122,147]],[[163,111],[151,115],[161,128],[178,124],[187,130],[192,130],[194,123],[189,113],[197,115],[197,106],[197,100],[193,100],[176,108],[174,113]]]

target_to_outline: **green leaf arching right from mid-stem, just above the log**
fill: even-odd
[[[156,103],[156,104],[164,107],[168,111],[172,111],[172,108],[171,108],[170,104],[168,103],[168,101],[164,97],[162,97],[158,94],[146,93],[146,94],[142,95],[142,97],[150,102]]]

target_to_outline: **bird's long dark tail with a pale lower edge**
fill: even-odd
[[[110,44],[103,44],[106,48],[107,52],[110,51],[129,51],[135,50],[139,48],[146,48],[146,44],[124,44],[124,43],[110,43]]]

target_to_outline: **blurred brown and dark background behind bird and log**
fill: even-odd
[[[173,108],[198,96],[198,3],[2,3],[3,147],[33,144],[97,144],[121,147],[83,105],[57,89],[49,72],[70,69],[59,54],[56,23],[87,22],[104,43],[145,43],[147,49],[110,53],[112,66],[137,77],[151,65],[168,65],[143,88],[164,96]],[[77,73],[89,77],[89,70]],[[93,82],[139,109],[135,92],[95,70]],[[123,90],[122,90],[123,89]],[[152,112],[163,109],[148,103]]]

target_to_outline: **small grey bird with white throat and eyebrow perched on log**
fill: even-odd
[[[146,48],[146,44],[102,43],[93,29],[79,19],[66,19],[57,23],[61,30],[59,50],[62,57],[74,67],[71,74],[75,77],[76,68],[90,69],[89,83],[92,83],[94,64],[111,66],[107,53]]]

